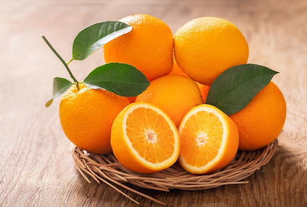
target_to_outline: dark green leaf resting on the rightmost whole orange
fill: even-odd
[[[212,83],[206,103],[227,115],[243,109],[279,72],[256,64],[234,66]]]

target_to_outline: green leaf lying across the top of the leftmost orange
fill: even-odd
[[[94,69],[84,84],[92,89],[105,89],[120,96],[134,97],[150,84],[145,75],[126,63],[108,63]]]

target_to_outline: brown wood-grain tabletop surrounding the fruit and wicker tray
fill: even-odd
[[[78,173],[52,95],[54,77],[70,78],[40,37],[65,60],[86,26],[151,14],[173,32],[197,17],[225,18],[240,28],[250,63],[279,71],[273,80],[287,102],[279,147],[246,184],[209,190],[134,189],[169,206],[307,206],[307,1],[306,0],[1,0],[0,2],[0,206],[136,206],[106,184]],[[70,67],[83,79],[102,65],[103,50]],[[156,203],[120,188],[141,203]]]

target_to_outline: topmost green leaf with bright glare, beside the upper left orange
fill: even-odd
[[[132,26],[118,21],[105,21],[88,26],[77,34],[73,59],[84,60],[107,42],[131,31]]]

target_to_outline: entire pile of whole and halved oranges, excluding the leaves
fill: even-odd
[[[225,167],[237,150],[260,149],[279,135],[286,104],[272,81],[230,116],[205,104],[215,78],[248,61],[247,41],[232,23],[197,18],[173,36],[167,24],[150,15],[119,21],[132,30],[104,45],[105,62],[131,64],[151,84],[129,98],[72,88],[61,100],[60,121],[78,147],[113,152],[137,173],[155,173],[179,160],[188,172],[203,174]]]

